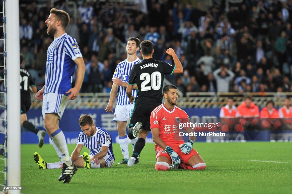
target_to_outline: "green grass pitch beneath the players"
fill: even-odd
[[[63,184],[58,181],[61,169],[38,169],[33,160],[37,151],[46,162],[58,161],[52,145],[38,148],[36,144],[22,144],[21,193],[291,193],[291,147],[291,142],[198,142],[194,149],[205,160],[205,170],[157,172],[154,144],[146,144],[140,163],[134,167],[117,165],[123,157],[119,144],[114,144],[112,168],[79,168],[71,182]],[[75,145],[68,148],[71,153]],[[81,154],[84,151],[87,148]],[[3,174],[0,178],[3,181]]]

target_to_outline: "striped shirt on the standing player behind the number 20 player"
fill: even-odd
[[[133,62],[128,62],[128,60],[125,59],[124,61],[118,64],[116,70],[114,71],[114,76],[112,78],[118,77],[121,79],[122,82],[128,83],[130,72],[133,65],[140,63],[141,61],[142,60],[139,59],[139,57],[137,57],[137,59]],[[133,90],[132,95],[137,97],[137,90]],[[123,86],[119,86],[119,95],[117,99],[117,105],[126,105],[126,104],[131,104],[128,96],[126,95],[126,88]]]

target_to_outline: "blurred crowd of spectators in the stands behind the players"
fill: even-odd
[[[184,94],[292,92],[292,0],[245,0],[230,4],[228,12],[225,1],[207,10],[189,1],[135,2],[131,8],[122,1],[79,2],[79,17],[70,18],[66,32],[79,43],[86,64],[81,92],[110,92],[114,70],[126,58],[126,52],[117,57],[116,44],[131,36],[151,40],[154,59],[173,64],[165,51],[175,50],[184,73],[166,78]],[[72,15],[66,1],[57,3]],[[44,22],[51,8],[51,1],[20,7],[21,53],[38,88],[53,41]]]

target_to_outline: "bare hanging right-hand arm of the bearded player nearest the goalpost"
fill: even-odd
[[[78,67],[76,74],[76,83],[74,88],[71,88],[66,92],[66,94],[69,94],[68,100],[75,99],[78,96],[85,75],[85,64],[83,57],[76,58],[74,62]]]

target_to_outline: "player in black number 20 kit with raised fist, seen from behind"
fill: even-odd
[[[142,41],[140,48],[143,60],[133,66],[126,89],[130,102],[134,103],[128,126],[128,137],[130,139],[138,137],[127,166],[134,166],[136,158],[145,146],[145,139],[150,131],[151,112],[162,103],[164,75],[183,73],[183,66],[172,48],[167,49],[166,53],[173,57],[175,66],[152,59],[154,50],[151,41]],[[132,95],[135,83],[138,86],[136,98]]]

